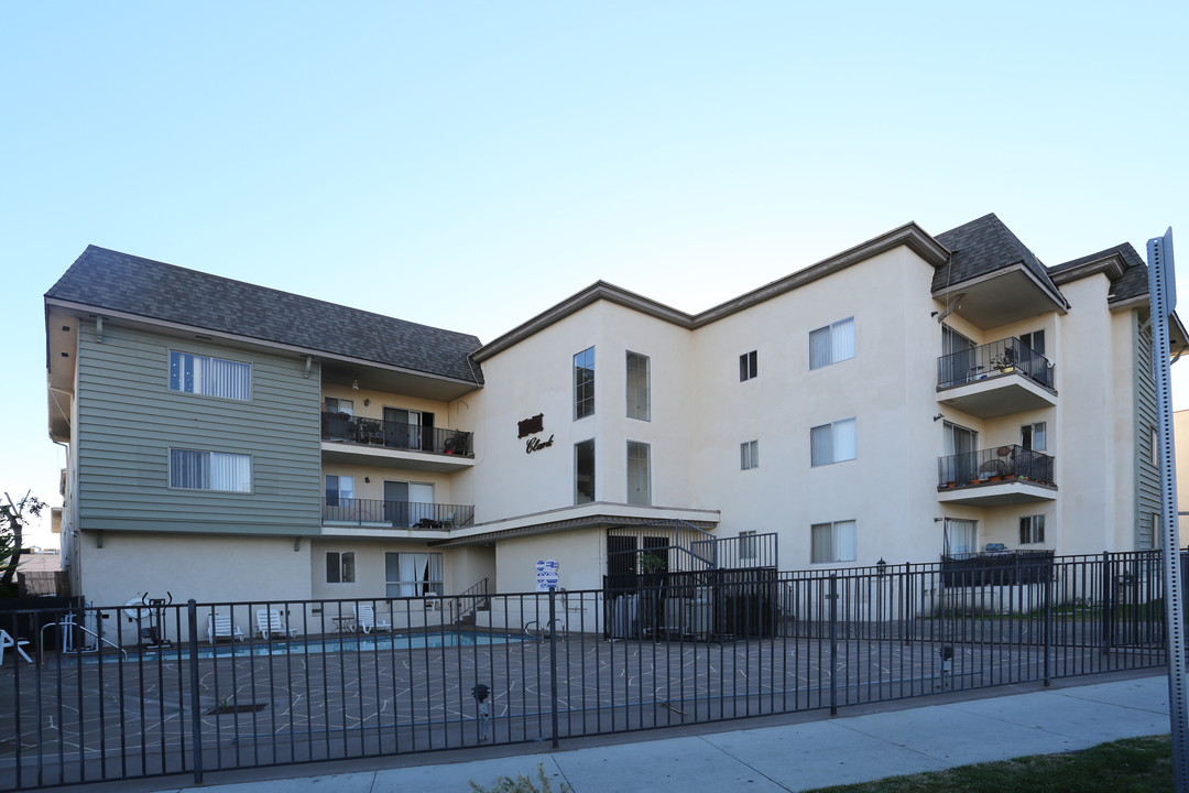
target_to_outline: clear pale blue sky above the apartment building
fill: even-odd
[[[988,212],[1050,265],[1172,226],[1189,272],[1187,33],[1185,2],[11,0],[0,490],[57,499],[42,295],[89,243],[484,341],[599,278],[693,311]]]

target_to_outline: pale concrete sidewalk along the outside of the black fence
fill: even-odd
[[[210,774],[199,787],[171,787],[159,780],[158,787],[137,785],[136,789],[467,793],[470,780],[484,787],[491,787],[504,775],[526,774],[535,780],[537,763],[542,763],[554,791],[560,789],[560,782],[566,782],[575,793],[643,789],[779,793],[1071,751],[1119,738],[1169,732],[1169,688],[1164,674],[1007,696],[988,697],[988,693],[995,692],[964,692],[965,699],[950,694],[945,701],[931,700],[916,706],[912,701],[901,701],[892,705],[895,710],[857,716],[829,718],[817,713],[816,720],[778,726],[712,731],[713,725],[700,725],[702,734],[681,737],[637,732],[627,736],[631,743],[609,745],[604,742],[553,753],[480,760],[474,760],[473,755],[472,759],[461,754],[434,755],[420,760],[440,761],[436,764],[322,773],[297,779],[262,778],[233,783],[219,783],[218,778],[226,779],[227,774]],[[735,722],[728,728],[743,724],[747,723]],[[672,732],[666,735],[672,736]],[[567,741],[562,745],[573,743],[575,741]],[[409,763],[410,760],[416,759],[394,757],[388,762]],[[314,768],[283,770],[301,773]],[[278,773],[283,772],[271,769],[272,775]],[[238,779],[244,778],[243,772],[238,773]],[[102,787],[89,786],[89,789]],[[130,787],[126,783],[125,789]]]

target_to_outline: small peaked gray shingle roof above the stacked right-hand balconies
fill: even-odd
[[[954,256],[933,272],[933,291],[1023,264],[1055,298],[1065,303],[1040,259],[994,213],[942,232],[935,239]]]

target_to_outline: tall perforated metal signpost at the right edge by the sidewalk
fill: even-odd
[[[1164,541],[1164,603],[1169,631],[1169,720],[1172,770],[1178,793],[1189,793],[1189,729],[1185,724],[1184,603],[1181,589],[1181,540],[1177,529],[1177,466],[1172,446],[1172,383],[1169,316],[1177,307],[1172,229],[1147,240],[1147,292],[1152,304],[1152,369],[1156,376],[1157,448],[1160,471],[1160,527]]]

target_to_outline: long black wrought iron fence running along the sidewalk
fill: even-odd
[[[556,744],[1165,662],[1158,553],[986,569],[25,609],[0,615],[29,642],[0,667],[0,787]]]

